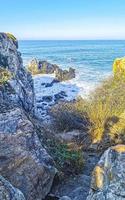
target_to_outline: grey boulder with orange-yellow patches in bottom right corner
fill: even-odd
[[[93,171],[87,200],[125,199],[125,145],[109,148]]]

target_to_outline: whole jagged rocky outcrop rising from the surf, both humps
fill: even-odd
[[[75,69],[63,70],[58,65],[51,64],[47,61],[41,61],[34,58],[28,65],[28,70],[31,74],[53,74],[58,81],[67,81],[75,78]]]

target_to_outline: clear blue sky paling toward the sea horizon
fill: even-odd
[[[125,0],[0,0],[0,32],[19,39],[125,39]]]

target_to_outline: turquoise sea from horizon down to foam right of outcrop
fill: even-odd
[[[62,68],[74,67],[73,81],[88,93],[112,73],[112,63],[125,56],[125,41],[20,41],[24,64],[32,58],[56,63]]]

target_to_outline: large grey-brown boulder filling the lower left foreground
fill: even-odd
[[[11,108],[0,113],[0,174],[27,200],[41,200],[50,191],[55,173],[52,158],[24,112]]]

